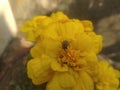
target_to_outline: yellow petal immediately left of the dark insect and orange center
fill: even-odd
[[[41,57],[42,54],[46,54],[50,57],[56,57],[58,50],[60,49],[60,43],[51,38],[44,38],[31,49],[30,53],[32,57]]]

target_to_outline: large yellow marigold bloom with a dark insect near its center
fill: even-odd
[[[105,90],[99,84],[102,69],[96,70],[100,68],[97,54],[102,37],[94,33],[92,22],[69,19],[57,12],[27,21],[22,31],[28,40],[35,41],[30,51],[33,59],[27,64],[28,77],[34,84],[48,82],[46,90],[95,90],[95,85]],[[118,81],[115,84],[110,90],[116,90]]]

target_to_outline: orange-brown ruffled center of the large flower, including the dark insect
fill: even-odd
[[[79,50],[72,49],[67,40],[62,42],[62,49],[58,53],[58,62],[61,65],[67,64],[67,66],[75,70],[79,70],[82,66],[84,66],[80,60]]]

